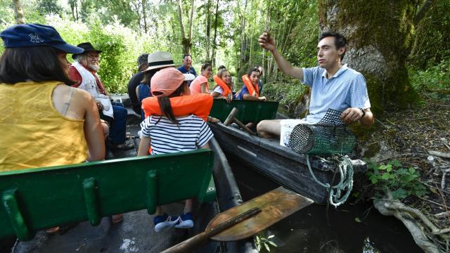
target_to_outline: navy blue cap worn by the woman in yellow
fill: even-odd
[[[13,25],[0,33],[6,48],[51,46],[67,53],[82,53],[83,48],[67,44],[55,28],[49,25]]]

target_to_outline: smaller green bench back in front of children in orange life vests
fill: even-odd
[[[226,103],[225,99],[215,98],[210,116],[220,119],[221,122],[225,122],[226,117],[228,117],[233,108],[238,108],[239,111],[236,119],[239,119],[243,124],[250,122],[258,123],[264,119],[275,119],[278,102],[232,100],[231,103]]]

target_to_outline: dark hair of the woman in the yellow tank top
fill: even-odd
[[[6,48],[0,58],[0,83],[15,84],[32,80],[76,84],[60,63],[58,53],[61,52],[51,46]]]

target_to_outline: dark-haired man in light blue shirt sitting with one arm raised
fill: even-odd
[[[272,53],[281,72],[300,79],[300,82],[311,87],[311,103],[307,117],[263,120],[257,125],[259,136],[276,138],[280,136],[281,128],[286,124],[290,127],[301,123],[316,124],[329,108],[341,111],[340,119],[345,124],[356,121],[364,126],[373,124],[366,79],[361,73],[342,64],[342,58],[347,51],[346,44],[347,40],[342,34],[323,32],[317,45],[319,66],[293,67],[278,52],[275,40],[270,34],[264,32],[259,37],[259,45]]]

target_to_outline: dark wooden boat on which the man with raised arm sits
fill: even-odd
[[[250,100],[214,100],[210,115],[224,122],[233,108],[238,108],[236,118],[247,124],[257,123],[263,119],[275,119],[277,102],[259,102]],[[279,145],[279,140],[252,136],[245,131],[222,123],[210,124],[221,148],[232,157],[249,164],[250,167],[269,177],[281,186],[290,188],[315,202],[325,203],[328,190],[314,181],[307,167],[307,156],[295,153],[290,148]],[[332,186],[339,181],[337,167],[322,157],[310,156],[311,170],[316,179]],[[355,173],[366,171],[366,164],[361,160],[351,160]],[[335,175],[335,173],[338,173]],[[332,182],[335,176],[335,182]]]

